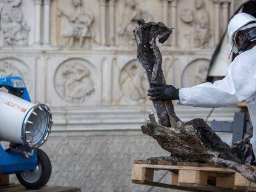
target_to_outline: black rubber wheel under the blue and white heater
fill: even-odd
[[[31,171],[17,173],[20,184],[30,190],[38,190],[45,186],[51,177],[51,161],[45,152],[38,149],[38,163]]]

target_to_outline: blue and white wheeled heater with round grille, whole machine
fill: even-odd
[[[31,102],[20,77],[0,77],[0,88],[0,140],[10,142],[6,150],[0,145],[0,173],[15,173],[23,186],[37,190],[51,176],[51,161],[38,149],[51,132],[51,111]]]

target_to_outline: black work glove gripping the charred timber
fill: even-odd
[[[179,89],[176,89],[173,85],[165,85],[158,81],[151,81],[150,85],[152,88],[148,90],[148,96],[152,101],[179,99]]]

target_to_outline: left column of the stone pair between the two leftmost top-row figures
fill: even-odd
[[[41,4],[42,0],[33,0],[35,10],[35,40],[34,44],[41,44]]]

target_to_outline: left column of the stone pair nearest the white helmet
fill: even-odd
[[[220,43],[220,0],[213,0],[214,2],[214,43],[218,45]]]

